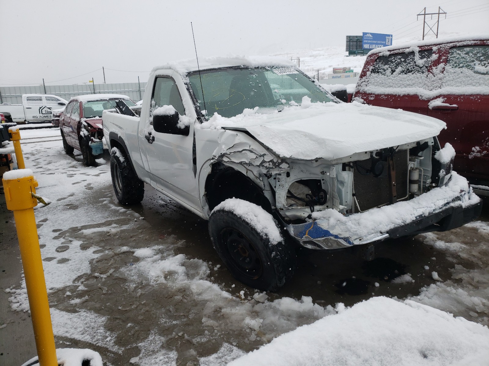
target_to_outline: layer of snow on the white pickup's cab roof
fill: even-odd
[[[295,62],[276,56],[232,56],[232,57],[208,57],[199,59],[200,70],[208,70],[219,67],[247,66],[247,67],[295,67]],[[197,71],[197,60],[187,59],[169,62],[156,66],[151,70],[154,73],[160,69],[173,69],[182,76],[189,72]]]

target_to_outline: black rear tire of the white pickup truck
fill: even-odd
[[[111,151],[111,177],[115,196],[120,203],[141,203],[144,197],[144,183],[137,178],[124,151],[117,147],[113,147]]]

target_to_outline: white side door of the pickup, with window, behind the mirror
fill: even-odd
[[[181,93],[186,93],[186,90],[183,88]],[[150,119],[145,122],[145,136],[139,136],[139,145],[146,153],[156,185],[200,211],[199,191],[192,162],[194,120],[190,121],[186,136],[178,134],[176,126],[169,126],[166,132],[156,132],[151,125],[153,112],[163,105],[172,105],[183,117],[186,112],[187,115],[191,114],[183,106],[177,83],[169,76],[155,79]]]

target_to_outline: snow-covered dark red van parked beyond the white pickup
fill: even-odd
[[[446,122],[454,170],[489,196],[489,37],[420,41],[369,52],[353,100]]]

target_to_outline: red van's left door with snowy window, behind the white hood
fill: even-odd
[[[354,97],[367,104],[425,115],[428,102],[423,94],[436,88],[430,73],[433,50],[399,52],[378,56],[367,73],[362,71]]]

